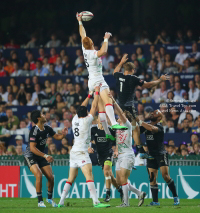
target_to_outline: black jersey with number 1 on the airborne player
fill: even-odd
[[[135,88],[142,86],[144,81],[135,75],[124,75],[121,72],[114,73],[114,77],[116,79],[119,105],[132,106],[135,98]]]

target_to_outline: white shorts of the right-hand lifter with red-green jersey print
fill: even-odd
[[[130,155],[119,154],[118,160],[116,162],[115,170],[119,171],[120,168],[124,168],[124,169],[128,169],[132,171],[132,167],[134,166],[134,163],[135,163],[134,154],[130,154]]]

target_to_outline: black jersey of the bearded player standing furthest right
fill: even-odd
[[[152,156],[165,154],[164,147],[164,129],[161,123],[154,125],[159,128],[157,133],[152,133],[146,130],[143,126],[140,127],[140,133],[145,133],[146,143],[149,150],[149,154]]]

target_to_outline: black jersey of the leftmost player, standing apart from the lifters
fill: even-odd
[[[39,127],[36,125],[32,127],[29,133],[29,143],[26,147],[26,151],[24,153],[25,157],[39,157],[33,154],[30,151],[30,143],[34,142],[37,143],[36,148],[39,149],[41,152],[44,152],[46,146],[46,140],[49,136],[53,137],[56,132],[47,124],[44,124],[44,130],[40,130]]]

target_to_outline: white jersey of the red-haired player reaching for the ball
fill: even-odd
[[[102,60],[98,58],[96,50],[86,50],[82,45],[85,65],[89,73],[89,79],[94,79],[102,75]]]

